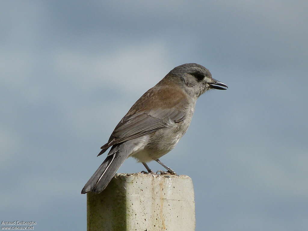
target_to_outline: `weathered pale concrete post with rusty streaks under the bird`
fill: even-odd
[[[87,193],[87,231],[145,230],[195,230],[190,177],[116,174],[102,193]]]

